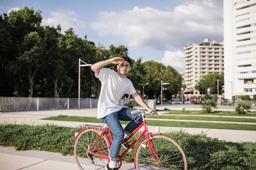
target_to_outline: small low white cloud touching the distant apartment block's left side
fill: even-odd
[[[165,51],[164,57],[158,62],[161,62],[165,66],[172,66],[180,74],[184,72],[184,52],[181,50]]]

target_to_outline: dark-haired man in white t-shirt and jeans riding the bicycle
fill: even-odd
[[[137,93],[130,79],[126,77],[131,70],[131,63],[132,60],[129,57],[115,57],[97,62],[91,66],[95,77],[101,81],[97,118],[106,123],[115,136],[110,147],[110,162],[105,167],[106,170],[117,169],[116,162],[122,142],[142,122],[141,116],[131,114],[133,109],[119,106],[119,100],[124,94],[132,95],[140,106],[148,112],[152,110]],[[108,64],[117,64],[117,72],[104,67]],[[157,116],[156,110],[154,111]],[[130,121],[130,123],[123,129],[119,120]],[[126,143],[122,147],[127,149],[128,144]]]

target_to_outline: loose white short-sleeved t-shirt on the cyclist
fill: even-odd
[[[102,118],[110,113],[121,110],[118,105],[124,94],[136,93],[132,82],[128,78],[121,78],[116,71],[110,68],[101,68],[99,75],[94,74],[101,81],[97,118]]]

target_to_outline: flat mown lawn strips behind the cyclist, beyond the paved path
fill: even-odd
[[[157,111],[163,111],[163,110],[157,110]],[[175,114],[175,115],[172,115],[172,114]],[[204,117],[204,116],[193,116],[193,115],[215,115],[215,116],[218,115],[219,117]],[[236,118],[222,117],[222,115],[236,116]],[[247,116],[252,116],[256,118],[256,115],[247,115]],[[232,121],[232,122],[256,123],[256,119],[241,118],[240,115],[237,115],[231,112],[218,112],[213,114],[206,114],[206,113],[202,113],[202,111],[189,111],[189,113],[183,113],[180,110],[171,110],[169,113],[166,113],[164,115],[159,115],[158,119],[177,119],[178,118],[180,121],[160,121],[160,120],[157,120],[155,116],[150,116],[150,118],[155,118],[155,120],[147,120],[148,126],[214,128],[214,129],[255,130],[256,131],[256,125],[250,125],[250,124],[235,124],[235,123],[226,124],[226,123],[182,121],[183,119],[183,120]],[[79,117],[79,116],[63,116],[63,115],[59,115],[56,117],[48,117],[48,118],[45,118],[45,120],[102,123],[101,120],[97,119],[96,117]],[[128,121],[121,121],[121,124],[128,124]]]

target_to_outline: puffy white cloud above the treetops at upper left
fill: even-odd
[[[67,31],[69,28],[73,28],[76,34],[81,33],[81,30],[86,27],[86,22],[81,20],[81,16],[74,11],[68,9],[58,9],[50,13],[49,18],[43,18],[42,25],[49,25],[56,27],[61,25],[61,33]]]

